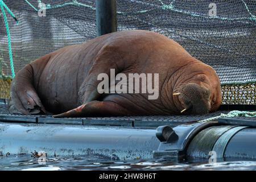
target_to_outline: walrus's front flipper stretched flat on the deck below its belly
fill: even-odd
[[[112,101],[92,101],[65,113],[53,115],[54,118],[63,117],[106,117],[131,115],[130,111]]]

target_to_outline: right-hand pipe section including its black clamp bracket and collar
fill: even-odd
[[[240,123],[241,126],[237,125],[236,120],[229,121],[229,125],[217,121],[196,122],[173,129],[160,126],[156,132],[160,144],[158,151],[154,151],[154,157],[169,156],[194,161],[208,160],[210,156],[218,161],[256,160],[256,128],[253,120],[241,120]],[[164,137],[169,135],[172,138],[168,139],[170,142]]]

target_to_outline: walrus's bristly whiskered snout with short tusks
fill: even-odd
[[[181,85],[175,90],[181,107],[181,113],[185,114],[207,114],[210,111],[210,90],[205,86],[195,83]]]

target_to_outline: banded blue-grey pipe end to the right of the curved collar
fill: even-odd
[[[216,152],[216,158],[230,160],[256,159],[256,129],[247,126],[213,126],[193,138],[189,144],[189,158],[208,159],[209,152]]]

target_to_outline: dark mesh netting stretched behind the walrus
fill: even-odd
[[[0,0],[2,1],[2,0]],[[4,0],[14,69],[61,47],[97,36],[95,1]],[[221,79],[224,104],[255,104],[256,1],[117,0],[118,31],[142,29],[176,40],[192,56],[211,65]],[[46,16],[39,16],[39,3]],[[11,76],[8,38],[0,14],[1,75]],[[1,87],[1,85],[0,85]]]

